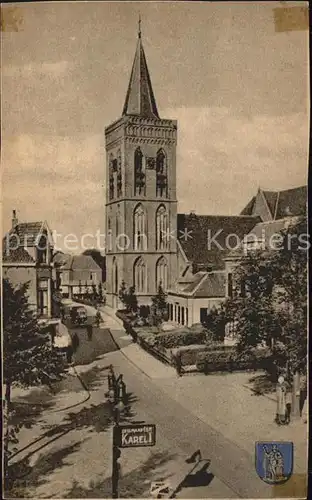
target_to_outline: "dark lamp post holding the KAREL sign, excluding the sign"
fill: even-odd
[[[120,464],[118,462],[121,451],[118,448],[120,413],[124,410],[125,383],[122,375],[116,379],[113,367],[110,367],[108,375],[108,400],[112,404],[114,426],[113,426],[113,461],[112,461],[112,498],[118,498],[118,480]]]

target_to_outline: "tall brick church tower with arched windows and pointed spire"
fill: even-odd
[[[124,280],[139,304],[177,273],[177,122],[159,117],[139,32],[122,116],[105,129],[107,305]]]

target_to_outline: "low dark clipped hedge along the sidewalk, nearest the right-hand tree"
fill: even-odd
[[[259,370],[267,366],[269,351],[255,349],[249,353],[237,354],[235,350],[200,352],[197,355],[198,371],[209,373],[214,371]]]

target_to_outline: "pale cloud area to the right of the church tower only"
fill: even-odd
[[[305,184],[308,117],[257,115],[229,108],[178,108],[162,116],[178,120],[179,210],[239,213],[260,185],[279,190]]]

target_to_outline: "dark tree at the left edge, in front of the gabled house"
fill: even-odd
[[[16,444],[19,428],[12,427],[12,387],[31,387],[51,384],[65,374],[65,363],[53,349],[51,336],[40,332],[38,320],[27,298],[29,283],[14,288],[3,280],[3,381],[4,401],[4,467]],[[14,450],[13,450],[14,451]]]

